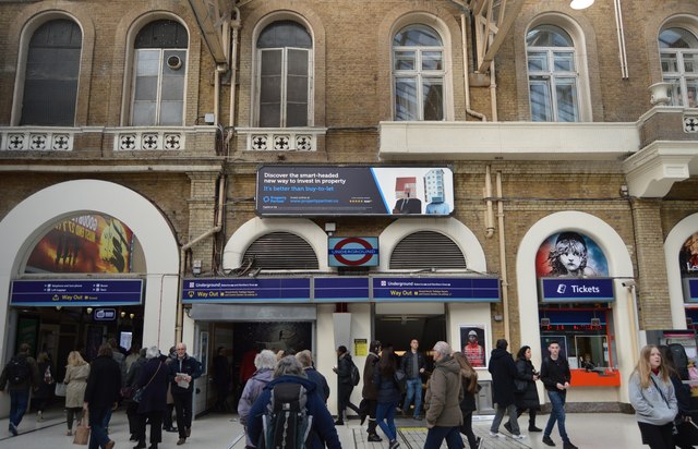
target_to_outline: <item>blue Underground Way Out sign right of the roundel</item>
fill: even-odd
[[[497,278],[373,278],[374,301],[498,302]]]

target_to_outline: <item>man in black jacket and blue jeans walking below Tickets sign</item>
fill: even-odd
[[[550,435],[553,432],[553,427],[555,427],[555,423],[557,423],[557,429],[563,439],[563,449],[577,449],[577,446],[569,440],[565,429],[565,399],[567,398],[567,389],[571,378],[569,364],[567,364],[565,357],[559,356],[559,343],[557,341],[551,341],[547,344],[547,351],[550,356],[545,357],[541,365],[541,380],[545,386],[545,390],[547,390],[547,397],[553,410],[543,430],[543,442],[547,446],[555,446]]]

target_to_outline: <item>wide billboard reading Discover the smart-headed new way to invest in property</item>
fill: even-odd
[[[448,216],[454,173],[447,167],[264,166],[257,170],[261,216]]]

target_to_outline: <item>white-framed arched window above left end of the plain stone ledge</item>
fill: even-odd
[[[408,25],[393,38],[395,120],[444,120],[444,45],[435,29]]]

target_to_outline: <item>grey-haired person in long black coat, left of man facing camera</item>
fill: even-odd
[[[163,440],[163,414],[167,409],[168,369],[160,359],[157,347],[145,352],[145,365],[141,368],[139,386],[144,388],[139,403],[139,444],[134,449],[145,448],[145,423],[151,424],[149,449],[157,449]]]

